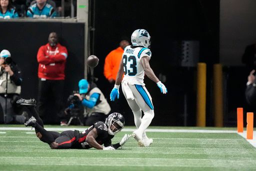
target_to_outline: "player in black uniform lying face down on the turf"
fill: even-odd
[[[105,123],[98,121],[82,132],[78,130],[65,130],[61,133],[47,131],[43,128],[43,122],[35,109],[34,99],[19,99],[18,104],[26,105],[32,116],[25,122],[25,126],[35,128],[36,136],[48,143],[53,149],[66,148],[91,148],[112,150],[122,146],[130,137],[125,134],[121,141],[111,144],[114,134],[119,132],[124,125],[124,117],[120,113],[111,113]],[[104,146],[102,146],[104,144]]]

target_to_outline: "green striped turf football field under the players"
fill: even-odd
[[[118,142],[125,128],[112,139]],[[47,130],[83,130],[45,125]],[[256,170],[256,148],[236,128],[160,127],[147,129],[150,147],[131,137],[118,150],[50,149],[23,125],[0,125],[0,170]]]

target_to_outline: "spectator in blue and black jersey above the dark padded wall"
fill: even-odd
[[[55,17],[54,7],[46,0],[36,0],[36,3],[30,5],[26,11],[26,16],[33,18]]]

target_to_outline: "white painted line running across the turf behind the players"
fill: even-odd
[[[78,127],[45,127],[46,130],[52,131],[64,131],[64,130],[79,130],[83,131],[85,128]],[[0,130],[31,130],[30,127],[0,127]],[[123,128],[123,132],[132,132],[135,129],[132,128]],[[192,133],[238,133],[237,130],[213,130],[213,129],[146,129],[147,132],[192,132]],[[1,132],[3,133],[3,132]],[[4,132],[5,133],[5,132]],[[26,132],[28,133],[28,132]],[[253,139],[246,138],[246,130],[242,133],[238,133],[244,139],[246,139],[252,146],[256,147],[256,131],[253,131]]]

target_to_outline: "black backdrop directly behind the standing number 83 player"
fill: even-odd
[[[112,87],[103,74],[104,58],[116,48],[120,37],[130,37],[133,30],[146,29],[152,38],[150,65],[159,74],[166,75],[163,95],[154,82],[145,78],[155,108],[151,125],[184,125],[184,94],[187,94],[187,125],[195,124],[196,87],[195,68],[181,67],[178,54],[172,49],[180,40],[200,42],[201,62],[207,63],[211,80],[211,65],[218,62],[219,1],[218,0],[95,0],[94,54],[99,57],[95,76],[98,86],[109,98]],[[92,51],[93,51],[92,50]],[[210,92],[210,91],[209,91]],[[121,92],[120,92],[121,93]],[[122,93],[121,93],[122,95]],[[207,103],[210,98],[207,96]],[[133,114],[122,104],[127,124],[134,125]],[[207,106],[208,110],[211,106]],[[210,118],[210,116],[207,116]],[[207,125],[210,122],[207,122]]]

